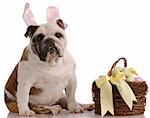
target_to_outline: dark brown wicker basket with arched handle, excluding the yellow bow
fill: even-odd
[[[125,58],[118,59],[113,65],[108,75],[112,74],[113,68],[120,61],[124,60],[124,67],[127,67],[127,60]],[[126,81],[127,82],[127,81]],[[119,94],[117,87],[112,84],[112,92],[113,92],[113,103],[114,103],[114,115],[115,116],[126,116],[126,115],[139,115],[143,114],[145,111],[146,105],[146,93],[147,93],[147,84],[145,81],[135,81],[135,82],[127,82],[134,92],[137,102],[133,102],[133,109],[130,110],[126,105],[124,100]],[[95,113],[101,114],[101,103],[100,103],[100,89],[96,86],[96,82],[94,81],[92,84],[92,92],[93,92],[93,101],[95,102]],[[111,113],[107,112],[106,115],[111,115]]]

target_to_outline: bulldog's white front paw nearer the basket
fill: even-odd
[[[68,109],[71,113],[83,113],[84,109],[77,103],[68,104]]]

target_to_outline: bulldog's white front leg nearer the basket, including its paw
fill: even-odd
[[[68,102],[68,109],[71,113],[82,113],[84,109],[75,101],[75,91],[77,87],[76,78],[70,79],[66,87],[66,95]]]

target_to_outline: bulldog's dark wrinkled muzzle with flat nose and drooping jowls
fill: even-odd
[[[63,45],[55,41],[52,38],[47,38],[45,40],[33,40],[32,50],[41,61],[56,61],[59,58],[63,57],[64,47]]]

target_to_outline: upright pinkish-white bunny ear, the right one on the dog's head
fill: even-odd
[[[47,22],[52,22],[59,19],[59,10],[56,7],[49,6],[47,8]]]

